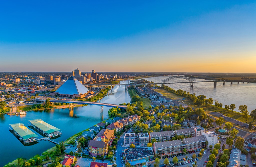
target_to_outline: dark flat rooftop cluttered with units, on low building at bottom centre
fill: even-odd
[[[154,152],[151,147],[128,148],[124,150],[124,153],[127,161],[148,157],[150,155],[154,156]]]

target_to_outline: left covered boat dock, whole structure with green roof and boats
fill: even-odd
[[[10,124],[9,128],[13,134],[24,143],[34,142],[38,137],[34,132],[32,132],[22,123]]]

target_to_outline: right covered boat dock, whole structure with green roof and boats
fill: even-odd
[[[30,124],[28,123],[29,126],[31,126],[35,130],[37,130],[39,133],[42,133],[45,136],[54,137],[62,134],[60,132],[61,131],[60,129],[46,123],[41,119],[33,119],[33,120],[29,120],[29,122],[30,122]]]

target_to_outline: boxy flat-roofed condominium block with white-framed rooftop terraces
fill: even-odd
[[[149,143],[148,133],[125,133],[125,147],[129,147],[131,144],[134,144],[135,146],[147,146],[147,143]]]

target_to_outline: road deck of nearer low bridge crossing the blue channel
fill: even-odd
[[[37,100],[31,99],[36,102],[45,102],[45,100]],[[76,104],[90,104],[96,106],[105,106],[105,107],[118,107],[118,108],[127,108],[125,105],[118,105],[118,104],[108,104],[108,103],[99,103],[99,102],[86,102],[86,101],[70,101],[70,100],[50,100],[53,103],[76,103]],[[135,107],[137,108],[137,107]]]

